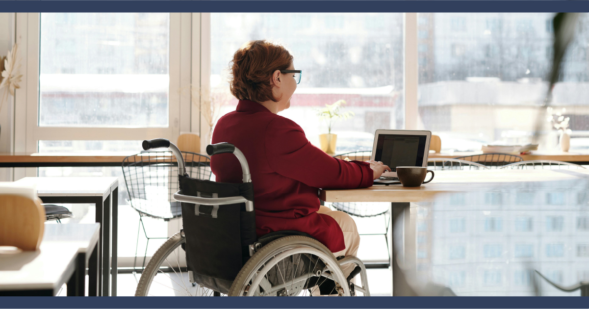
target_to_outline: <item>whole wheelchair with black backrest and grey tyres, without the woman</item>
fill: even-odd
[[[176,145],[163,138],[143,141],[143,149],[154,148],[168,148],[176,156],[180,188],[173,197],[181,202],[183,229],[153,254],[135,296],[157,296],[167,288],[179,296],[352,296],[358,292],[370,296],[366,268],[359,258],[336,258],[303,232],[256,236],[252,179],[246,157],[237,147],[208,145],[207,154],[234,154],[243,173],[240,184],[190,178]],[[350,263],[355,268],[346,277],[342,266]],[[172,271],[164,273],[163,267]],[[361,286],[350,281],[357,274]]]

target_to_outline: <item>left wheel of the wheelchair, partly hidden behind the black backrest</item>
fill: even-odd
[[[188,281],[188,272],[173,268],[179,265],[180,258],[175,251],[185,242],[181,232],[168,238],[153,254],[141,274],[135,296],[213,296],[214,291],[194,285]],[[181,251],[181,250],[180,250]],[[181,251],[183,254],[183,251]],[[164,273],[161,267],[172,268],[172,273]],[[157,276],[156,276],[157,275]]]

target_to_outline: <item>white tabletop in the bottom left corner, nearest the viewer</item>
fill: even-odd
[[[66,283],[78,252],[98,239],[100,225],[45,224],[38,251],[0,253],[0,290],[54,290]]]

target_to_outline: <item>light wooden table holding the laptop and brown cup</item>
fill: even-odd
[[[395,221],[408,222],[411,216],[411,202],[434,201],[442,194],[452,192],[518,192],[518,190],[534,190],[535,184],[567,184],[579,180],[587,181],[589,170],[474,170],[474,171],[435,171],[435,177],[429,184],[417,188],[402,187],[401,185],[375,185],[369,188],[352,190],[320,190],[319,197],[326,202],[391,202],[391,230],[395,231]],[[579,181],[580,182],[580,181]],[[562,189],[565,190],[565,189]],[[399,227],[397,227],[399,228]],[[401,227],[404,233],[411,233],[410,229]],[[393,242],[394,237],[389,241]],[[391,248],[391,265],[393,290],[399,284],[396,278],[400,275],[400,268],[396,261],[396,252]]]

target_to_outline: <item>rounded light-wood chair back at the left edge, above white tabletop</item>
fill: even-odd
[[[0,195],[0,245],[38,250],[44,230],[45,208],[39,198]]]

